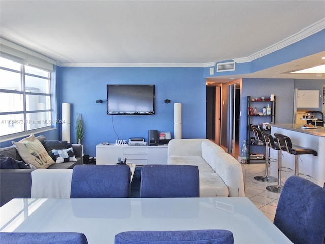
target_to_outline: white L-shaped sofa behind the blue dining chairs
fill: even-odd
[[[200,197],[244,197],[240,163],[208,139],[173,139],[168,164],[197,165]]]

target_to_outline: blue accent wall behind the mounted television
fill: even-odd
[[[71,142],[75,114],[85,124],[84,153],[95,156],[96,145],[116,139],[144,137],[148,130],[174,136],[174,103],[182,103],[182,137],[206,137],[206,84],[203,68],[58,67],[58,104],[71,103]],[[107,84],[154,84],[155,115],[107,115]],[[96,103],[102,99],[103,103]],[[171,103],[165,103],[170,99]],[[61,108],[58,108],[58,118]]]

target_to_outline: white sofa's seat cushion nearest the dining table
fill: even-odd
[[[200,173],[200,197],[228,197],[228,186],[216,173]]]

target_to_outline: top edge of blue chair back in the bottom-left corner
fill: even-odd
[[[0,232],[1,244],[87,244],[87,238],[77,232]]]

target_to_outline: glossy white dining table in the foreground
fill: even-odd
[[[234,243],[292,243],[248,198],[13,199],[2,232],[81,232],[90,244],[131,230],[226,229]]]

